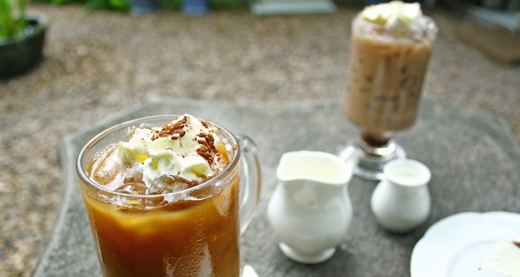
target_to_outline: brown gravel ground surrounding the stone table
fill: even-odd
[[[159,12],[131,17],[80,6],[33,5],[51,21],[45,59],[0,81],[0,276],[30,276],[60,199],[57,146],[71,132],[144,96],[229,101],[341,100],[349,21],[333,15],[254,17]],[[428,97],[509,120],[520,139],[520,68],[454,35],[460,18],[426,12],[440,34]],[[507,42],[504,42],[507,43]]]

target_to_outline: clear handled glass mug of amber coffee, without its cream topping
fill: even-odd
[[[202,184],[175,193],[130,195],[88,176],[96,153],[123,140],[129,127],[160,127],[177,117],[115,125],[79,154],[80,190],[103,276],[240,275],[239,235],[258,206],[261,177],[257,147],[247,136],[207,121],[223,138],[229,164]]]

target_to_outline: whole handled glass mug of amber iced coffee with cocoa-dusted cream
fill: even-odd
[[[103,276],[239,277],[258,161],[246,136],[189,114],[98,134],[77,170]]]

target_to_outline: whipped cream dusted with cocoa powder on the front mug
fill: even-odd
[[[162,127],[133,127],[129,135],[119,143],[117,157],[141,173],[148,188],[160,187],[164,177],[200,182],[216,174],[218,136],[198,118],[184,114]]]

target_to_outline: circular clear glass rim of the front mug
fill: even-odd
[[[94,136],[92,139],[90,139],[83,146],[83,148],[80,150],[80,152],[78,154],[78,158],[76,159],[76,172],[78,173],[78,177],[81,179],[80,181],[83,181],[85,184],[88,184],[89,186],[92,186],[93,188],[96,188],[96,190],[101,190],[103,193],[108,193],[112,196],[121,196],[121,197],[136,198],[136,199],[155,199],[155,198],[166,197],[166,196],[174,197],[175,195],[185,195],[185,194],[196,192],[198,190],[203,190],[203,189],[211,186],[212,184],[216,184],[218,181],[223,179],[222,178],[223,176],[229,175],[232,172],[232,170],[234,168],[236,168],[236,164],[239,162],[239,158],[241,156],[240,147],[236,148],[236,151],[234,151],[232,159],[229,161],[229,164],[223,170],[218,172],[217,175],[215,175],[214,177],[211,177],[207,181],[204,181],[204,182],[198,184],[197,186],[192,186],[191,188],[175,191],[173,193],[160,193],[157,195],[131,195],[128,193],[121,193],[118,191],[114,191],[114,190],[105,188],[101,184],[98,184],[96,181],[90,179],[90,177],[87,175],[87,172],[83,169],[83,159],[85,158],[85,154],[89,150],[91,150],[92,147],[94,147],[94,145],[96,145],[96,143],[102,141],[108,135],[113,134],[114,132],[119,131],[121,129],[125,129],[125,128],[131,127],[131,126],[136,126],[137,124],[140,124],[140,123],[149,123],[150,121],[153,121],[153,120],[161,120],[161,119],[168,119],[168,118],[170,120],[173,120],[178,117],[179,117],[178,115],[174,115],[174,114],[144,116],[144,117],[135,118],[132,120],[127,120],[122,123],[118,123],[116,125],[112,125],[111,127],[103,129],[102,132],[96,134],[96,136]],[[196,118],[198,118],[198,117],[196,117]],[[232,146],[238,145],[238,141],[237,141],[236,137],[234,136],[234,134],[232,134],[232,132],[229,132],[229,130],[226,129],[225,127],[218,125],[217,123],[214,123],[211,120],[206,120],[204,118],[198,118],[198,119],[211,123],[211,125],[216,127],[220,132],[223,132],[225,137],[232,140],[231,141]],[[80,186],[82,186],[82,184],[80,184]],[[180,199],[182,199],[182,198],[180,198]]]

